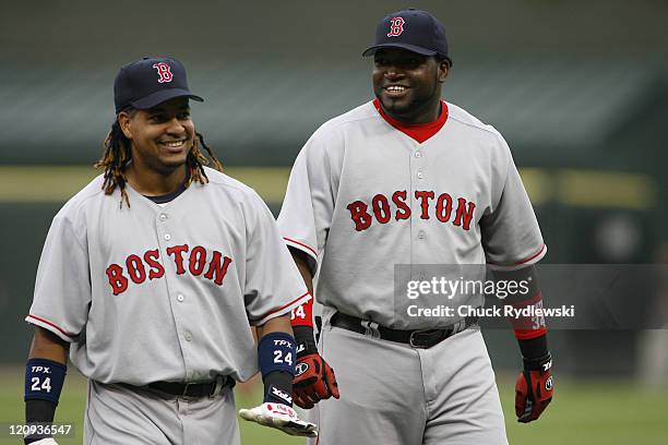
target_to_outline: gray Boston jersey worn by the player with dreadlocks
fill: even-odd
[[[26,321],[71,342],[102,383],[246,381],[250,325],[288,313],[307,289],[275,220],[250,188],[210,168],[165,206],[98,177],[49,230]]]

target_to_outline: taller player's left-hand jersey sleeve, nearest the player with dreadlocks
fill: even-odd
[[[290,171],[278,215],[278,227],[288,246],[305,252],[315,274],[334,212],[334,192],[327,145],[336,143],[321,128],[306,143]]]

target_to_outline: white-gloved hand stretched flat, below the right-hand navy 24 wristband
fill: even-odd
[[[243,420],[271,426],[289,435],[315,437],[318,425],[307,422],[297,417],[297,412],[287,405],[262,404],[251,409],[240,409],[239,416]]]

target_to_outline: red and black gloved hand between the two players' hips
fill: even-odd
[[[295,404],[300,408],[311,409],[320,400],[330,397],[339,397],[334,370],[318,352],[298,357],[293,380]]]

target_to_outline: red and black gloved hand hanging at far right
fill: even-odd
[[[515,414],[518,422],[528,423],[538,419],[552,401],[554,383],[551,368],[552,357],[549,353],[538,360],[524,360],[524,372],[515,384]]]

